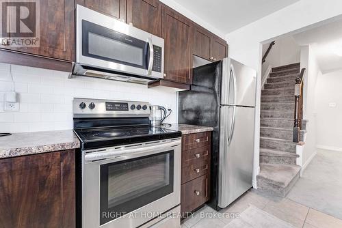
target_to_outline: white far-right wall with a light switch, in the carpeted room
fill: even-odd
[[[319,75],[316,85],[317,145],[342,150],[342,70]],[[329,106],[335,103],[336,106]]]

